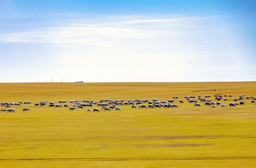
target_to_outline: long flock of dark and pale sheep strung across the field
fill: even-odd
[[[100,112],[100,110],[104,111],[122,111],[121,106],[131,106],[132,109],[154,109],[154,108],[178,108],[177,104],[173,104],[174,101],[179,102],[179,104],[183,104],[184,102],[188,102],[188,104],[194,104],[194,106],[200,107],[201,104],[204,104],[205,106],[210,106],[212,108],[217,108],[217,106],[221,106],[221,108],[227,108],[227,105],[222,103],[222,101],[228,101],[229,99],[232,99],[232,95],[215,95],[214,101],[211,99],[212,97],[209,95],[206,95],[204,97],[198,96],[197,98],[195,96],[185,96],[185,100],[179,100],[179,97],[173,96],[171,100],[167,101],[159,101],[157,99],[150,100],[141,100],[141,99],[130,99],[130,100],[100,100],[98,102],[95,101],[88,101],[84,100],[82,102],[79,102],[77,100],[70,100],[69,104],[67,104],[67,101],[61,100],[58,104],[55,104],[54,102],[48,102],[48,101],[41,101],[38,103],[32,104],[32,102],[26,101],[26,102],[2,102],[1,103],[1,113],[7,112],[7,113],[15,113],[14,107],[20,107],[23,105],[29,105],[29,106],[48,106],[50,108],[68,108],[70,111],[75,109],[83,109],[86,108],[88,112]],[[236,107],[237,105],[246,105],[246,100],[250,100],[254,106],[256,105],[256,97],[250,96],[245,97],[245,95],[239,96],[237,99],[232,99],[233,102],[229,102],[228,106],[230,108]],[[97,108],[94,108],[97,106]],[[29,108],[23,108],[23,112],[28,112]]]

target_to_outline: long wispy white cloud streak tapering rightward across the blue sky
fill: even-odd
[[[193,22],[194,19],[194,22]],[[0,34],[2,43],[93,43],[122,39],[145,39],[164,34],[180,34],[187,26],[205,26],[198,18],[130,18],[96,23],[72,22],[69,26]],[[197,20],[197,21],[196,21]],[[196,22],[195,22],[196,21]],[[173,29],[173,27],[179,27]]]

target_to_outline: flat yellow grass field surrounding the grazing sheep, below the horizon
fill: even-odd
[[[255,167],[256,82],[0,83],[0,167]],[[185,96],[232,95],[227,108],[194,107]],[[178,108],[104,111],[35,107],[40,101],[175,99]],[[174,99],[172,99],[174,100]],[[184,103],[179,103],[183,100]],[[143,104],[148,105],[147,102]],[[5,108],[5,107],[1,107]],[[23,108],[29,108],[23,113]]]

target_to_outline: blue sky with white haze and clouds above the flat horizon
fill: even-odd
[[[256,81],[256,0],[0,0],[0,82]]]

